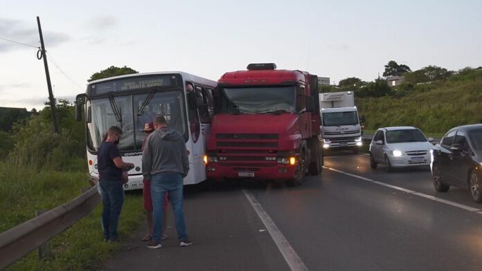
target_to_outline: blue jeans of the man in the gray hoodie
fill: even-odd
[[[161,172],[151,176],[152,196],[152,240],[161,242],[163,232],[164,208],[163,200],[166,192],[169,192],[170,203],[177,230],[177,239],[184,241],[188,239],[186,223],[184,222],[184,209],[182,206],[183,178],[177,172]]]

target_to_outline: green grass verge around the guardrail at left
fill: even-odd
[[[36,209],[52,209],[79,196],[88,187],[86,171],[58,172],[19,169],[9,162],[0,164],[0,232],[35,216]],[[142,195],[127,192],[120,215],[120,242],[127,240],[144,221]],[[120,243],[102,240],[102,205],[68,230],[51,240],[53,256],[39,261],[32,252],[7,270],[96,270],[102,261],[120,249]]]

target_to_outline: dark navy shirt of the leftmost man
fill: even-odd
[[[122,181],[122,169],[116,167],[114,158],[120,157],[117,145],[105,141],[100,144],[97,153],[97,169],[99,171],[99,181]]]

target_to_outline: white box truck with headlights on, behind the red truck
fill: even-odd
[[[358,153],[362,147],[362,125],[352,91],[319,93],[321,111],[321,140],[323,149],[351,149]]]

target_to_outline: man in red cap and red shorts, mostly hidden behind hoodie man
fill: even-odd
[[[148,139],[148,136],[154,131],[154,122],[146,122],[144,124],[144,133],[145,138],[142,142],[142,150],[144,150],[145,140]],[[148,216],[148,232],[143,237],[142,241],[150,241],[152,239],[152,197],[150,192],[150,180],[144,179],[143,180],[143,205]],[[166,194],[166,198],[164,198],[164,229],[166,229],[167,225],[167,212],[166,209],[168,207],[168,195]],[[166,231],[166,230],[164,230]],[[162,234],[162,239],[166,239],[167,235],[165,233]]]

